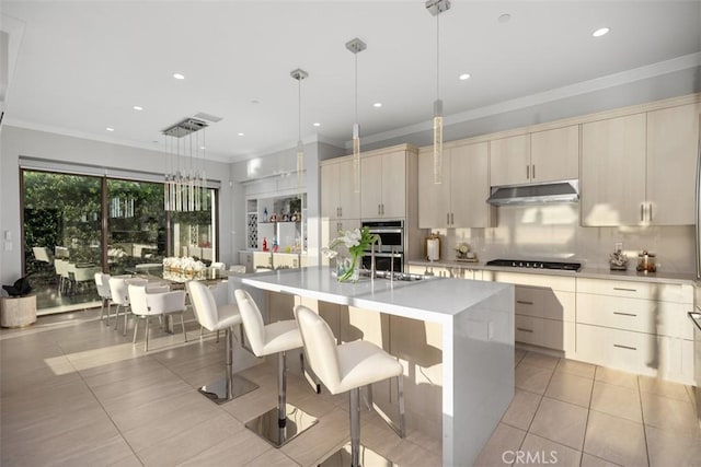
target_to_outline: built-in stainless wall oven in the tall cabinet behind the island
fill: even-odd
[[[380,237],[375,248],[375,269],[404,272],[404,221],[364,221],[361,226]],[[363,267],[370,269],[370,262],[371,253],[368,249],[363,255]]]

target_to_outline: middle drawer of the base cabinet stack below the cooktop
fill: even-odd
[[[575,294],[573,292],[516,285],[515,299],[516,314],[565,322],[575,320]]]

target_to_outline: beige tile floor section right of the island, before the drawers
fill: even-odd
[[[701,466],[691,387],[517,350],[515,390],[478,466]]]

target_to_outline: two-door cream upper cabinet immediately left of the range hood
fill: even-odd
[[[443,183],[434,184],[433,148],[418,154],[418,227],[486,227],[487,143],[444,149]]]

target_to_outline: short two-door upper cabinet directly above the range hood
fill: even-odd
[[[579,128],[572,125],[490,141],[491,185],[579,177]]]

